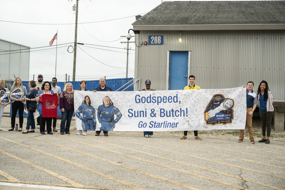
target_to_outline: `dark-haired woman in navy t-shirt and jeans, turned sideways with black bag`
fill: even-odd
[[[35,81],[30,81],[28,84],[30,91],[27,93],[27,97],[25,98],[27,102],[27,109],[28,109],[28,115],[27,115],[27,126],[26,130],[22,132],[23,134],[29,133],[29,132],[35,132],[34,129],[36,128],[35,126],[35,120],[34,120],[34,112],[29,110],[30,105],[33,105],[36,107],[36,95],[38,95],[38,91],[35,88],[36,87],[36,82]],[[31,130],[30,130],[31,126]]]

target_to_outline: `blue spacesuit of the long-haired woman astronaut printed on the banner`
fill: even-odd
[[[82,113],[82,117],[80,116],[80,113]],[[93,106],[82,104],[75,111],[75,115],[77,118],[82,120],[82,130],[95,130],[97,121],[96,110]]]

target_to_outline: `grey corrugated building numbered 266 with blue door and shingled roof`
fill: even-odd
[[[284,15],[285,1],[163,2],[133,23],[135,77],[156,90],[183,89],[190,75],[203,89],[266,80],[285,101]]]

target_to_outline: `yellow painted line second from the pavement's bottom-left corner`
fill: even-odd
[[[3,140],[6,140],[5,138],[3,138],[3,137],[0,137],[1,139],[3,139]],[[8,139],[7,139],[8,140]],[[9,141],[9,140],[8,140]],[[75,181],[72,181],[72,180],[70,180],[70,179],[68,179],[68,178],[66,178],[66,177],[64,177],[64,176],[62,176],[62,175],[59,175],[59,174],[57,174],[57,173],[55,173],[55,172],[53,172],[53,171],[50,171],[50,170],[48,170],[48,169],[46,169],[46,168],[44,168],[44,167],[41,167],[41,166],[38,166],[38,165],[36,165],[36,164],[33,164],[33,163],[31,163],[31,162],[29,162],[29,161],[27,161],[27,160],[24,160],[24,159],[22,159],[22,158],[19,158],[18,156],[15,156],[15,155],[13,155],[13,154],[10,154],[9,152],[5,152],[5,151],[3,151],[3,150],[1,150],[0,149],[0,152],[1,153],[3,153],[3,154],[6,154],[7,156],[10,156],[11,158],[14,158],[14,159],[16,159],[16,160],[19,160],[19,161],[21,161],[21,162],[24,162],[25,164],[28,164],[28,165],[30,165],[30,166],[32,166],[32,167],[35,167],[35,168],[37,168],[37,169],[40,169],[40,170],[42,170],[42,171],[45,171],[46,173],[49,173],[50,175],[53,175],[53,176],[55,176],[55,177],[57,177],[57,178],[59,178],[59,179],[61,179],[61,180],[63,180],[63,181],[66,181],[67,183],[69,183],[69,184],[71,184],[71,185],[76,185],[76,186],[78,186],[78,187],[82,187],[83,185],[81,185],[80,183],[76,183]]]

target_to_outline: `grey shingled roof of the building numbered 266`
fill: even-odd
[[[165,1],[138,25],[285,24],[285,1]]]

